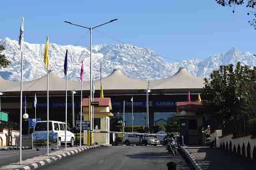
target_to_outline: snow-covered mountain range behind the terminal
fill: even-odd
[[[12,63],[8,68],[0,70],[0,76],[7,80],[20,79],[20,56],[18,41],[9,38],[0,40],[4,45],[7,59]],[[23,51],[24,80],[33,80],[46,74],[43,63],[44,44],[25,43]],[[84,79],[90,76],[90,49],[73,45],[57,45],[50,43],[50,66],[60,77],[64,77],[64,57],[68,49],[68,78],[79,80],[81,61],[84,61]],[[205,77],[218,68],[220,64],[256,65],[256,57],[250,53],[243,53],[232,47],[228,52],[212,55],[204,60],[192,59],[189,61],[168,63],[159,57],[154,51],[146,47],[134,47],[128,44],[117,45],[93,45],[92,62],[95,78],[100,77],[100,62],[102,62],[103,77],[108,76],[114,68],[121,68],[122,72],[130,77],[141,80],[154,80],[166,78],[175,74],[180,67],[185,67],[188,72]]]

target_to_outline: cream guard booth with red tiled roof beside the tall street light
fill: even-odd
[[[110,98],[94,98],[92,102],[98,102],[98,106],[94,106],[94,123],[93,131],[110,131],[110,116],[114,116],[110,111],[112,110]],[[89,121],[89,98],[84,98],[83,103],[84,121]],[[90,122],[92,123],[92,122]],[[88,141],[87,131],[84,131],[84,143]],[[109,133],[93,133],[93,144],[110,144]]]

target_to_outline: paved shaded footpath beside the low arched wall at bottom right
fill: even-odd
[[[228,150],[207,147],[184,147],[203,170],[253,170],[256,163]]]

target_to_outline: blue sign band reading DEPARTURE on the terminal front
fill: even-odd
[[[66,106],[66,102],[49,102],[49,108],[51,109],[64,109]],[[47,108],[46,102],[37,102],[37,108]],[[72,108],[72,102],[67,103],[68,108]],[[74,108],[80,108],[80,102],[74,102]]]

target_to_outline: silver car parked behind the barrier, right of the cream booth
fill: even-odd
[[[124,143],[127,146],[130,144],[148,145],[148,144],[158,144],[160,143],[160,141],[155,137],[151,137],[151,136],[130,134],[126,137],[122,137],[122,143]]]

